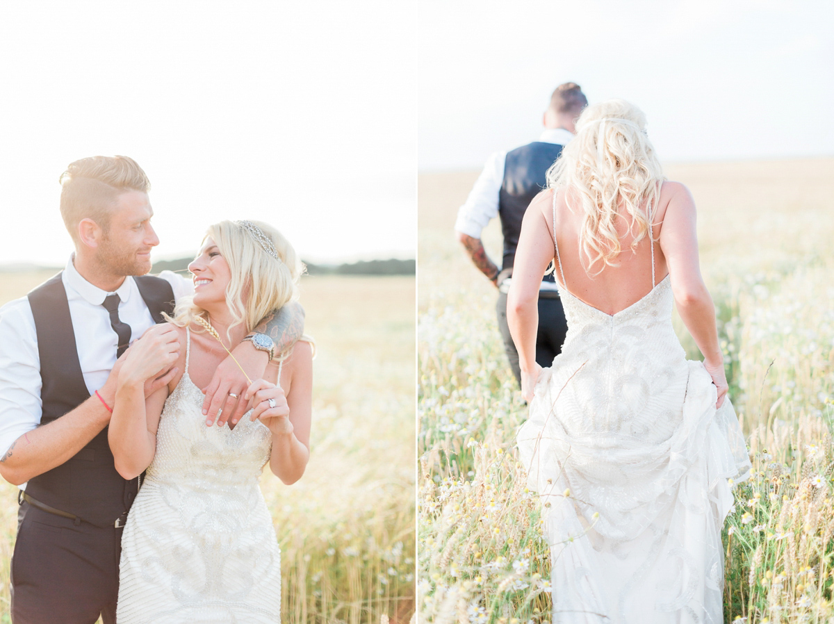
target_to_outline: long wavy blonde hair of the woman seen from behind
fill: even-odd
[[[580,253],[594,264],[614,266],[622,250],[617,219],[630,220],[631,250],[646,236],[664,180],[660,160],[646,136],[646,115],[621,99],[593,104],[576,122],[576,136],[547,172],[551,189],[565,189],[565,200],[585,214]],[[583,264],[585,264],[583,262]]]

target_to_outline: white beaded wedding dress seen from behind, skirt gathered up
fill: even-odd
[[[565,345],[518,432],[560,624],[724,621],[727,479],[749,478],[750,460],[730,400],[716,410],[710,375],[686,360],[651,259],[651,291],[615,315],[560,286]]]

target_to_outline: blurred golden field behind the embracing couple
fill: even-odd
[[[0,304],[48,278],[0,274]],[[261,488],[281,546],[282,621],[403,624],[414,612],[414,278],[304,277],[317,343],[304,477]],[[0,624],[17,531],[0,480]]]

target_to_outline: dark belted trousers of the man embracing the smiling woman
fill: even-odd
[[[23,502],[12,556],[13,624],[116,621],[122,529],[74,524]]]

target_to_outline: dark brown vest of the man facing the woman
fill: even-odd
[[[173,289],[164,279],[137,277],[142,299],[157,323],[173,311]],[[67,292],[59,273],[28,294],[41,360],[41,424],[46,425],[90,398],[78,361]],[[82,337],[83,338],[83,337]],[[125,481],[113,465],[104,428],[62,465],[29,480],[35,500],[78,516],[96,526],[113,526],[130,509],[138,481]]]

